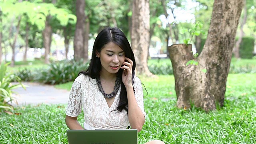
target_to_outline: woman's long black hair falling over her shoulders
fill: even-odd
[[[94,41],[94,45],[92,48],[92,58],[90,61],[90,64],[86,71],[79,72],[78,76],[80,74],[88,75],[90,78],[100,78],[100,70],[101,70],[101,63],[100,58],[96,58],[96,51],[100,52],[104,46],[110,42],[115,43],[118,45],[122,50],[124,50],[125,56],[127,58],[130,58],[132,60],[132,85],[134,84],[134,74],[135,74],[135,67],[136,62],[134,58],[134,53],[132,52],[132,48],[130,46],[129,41],[127,40],[124,33],[119,28],[104,28],[96,37]],[[117,76],[120,78],[121,83],[121,92],[120,92],[120,101],[118,104],[118,107],[116,110],[119,112],[122,112],[122,110],[126,110],[128,113],[128,99],[127,99],[127,92],[126,88],[124,86],[124,83],[122,82],[122,72],[123,69],[120,68],[117,72]],[[133,89],[135,92],[135,90]]]

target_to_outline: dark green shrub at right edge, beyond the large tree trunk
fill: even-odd
[[[239,53],[240,58],[252,58],[254,51],[254,41],[253,37],[243,37],[240,44]]]

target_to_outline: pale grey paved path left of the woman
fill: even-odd
[[[17,83],[12,83],[17,84]],[[69,91],[56,89],[51,85],[43,85],[34,82],[22,82],[28,86],[26,90],[16,88],[13,91],[16,93],[13,96],[16,98],[18,104],[12,102],[14,106],[24,106],[26,104],[67,104]]]

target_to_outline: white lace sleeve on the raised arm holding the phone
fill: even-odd
[[[146,112],[144,111],[144,102],[143,102],[143,90],[142,90],[142,83],[140,82],[140,79],[136,76],[134,76],[134,90],[135,90],[135,99],[140,107],[142,113],[146,117]]]

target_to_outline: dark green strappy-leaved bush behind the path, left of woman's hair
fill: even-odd
[[[78,62],[61,61],[52,62],[49,64],[49,68],[42,68],[37,70],[34,75],[36,82],[44,84],[63,84],[66,82],[74,81],[78,73],[82,70],[86,70],[88,62],[84,63],[83,60]]]

